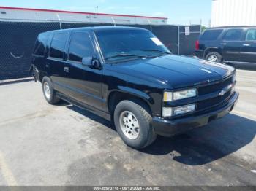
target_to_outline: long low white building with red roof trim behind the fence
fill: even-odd
[[[0,21],[165,25],[166,17],[0,7]]]

